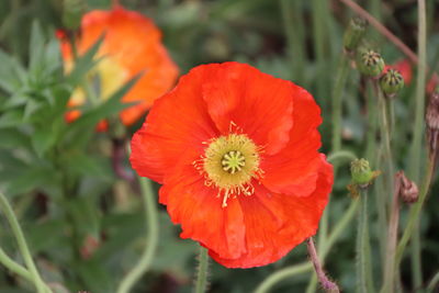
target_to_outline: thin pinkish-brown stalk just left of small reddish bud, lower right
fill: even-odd
[[[399,189],[401,180],[398,173],[394,178],[394,190],[391,209],[391,218],[389,222],[387,247],[385,251],[385,266],[384,266],[384,283],[381,292],[392,293],[395,290],[395,250],[397,241],[397,232],[399,223]]]

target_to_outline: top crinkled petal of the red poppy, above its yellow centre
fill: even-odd
[[[203,99],[223,134],[234,128],[233,122],[267,154],[285,146],[293,125],[294,83],[238,63],[206,65],[196,70],[204,71]]]

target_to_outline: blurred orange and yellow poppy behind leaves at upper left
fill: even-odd
[[[106,99],[121,86],[139,72],[143,77],[123,97],[123,102],[139,101],[125,109],[120,116],[125,125],[139,119],[154,101],[168,91],[178,76],[178,68],[161,44],[161,33],[151,20],[123,9],[94,10],[83,15],[78,54],[86,53],[104,34],[97,57],[103,57],[91,74],[100,78],[101,98]],[[66,70],[72,68],[72,54],[67,40],[61,38],[61,52]],[[76,90],[70,104],[85,103],[82,90]]]

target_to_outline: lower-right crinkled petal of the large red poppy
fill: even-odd
[[[210,256],[228,268],[259,267],[281,259],[316,234],[333,181],[333,167],[322,156],[316,189],[308,196],[277,194],[257,187],[254,195],[239,198],[247,252],[224,258],[211,249]]]

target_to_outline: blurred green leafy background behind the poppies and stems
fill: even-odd
[[[307,89],[323,108],[323,151],[329,151],[334,72],[342,54],[342,33],[353,15],[340,1],[124,0],[122,3],[155,20],[181,74],[204,63],[237,60]],[[358,3],[416,52],[416,1]],[[144,214],[138,187],[117,178],[112,170],[111,135],[94,133],[87,122],[116,113],[121,109],[117,103],[121,95],[106,108],[89,109],[88,121],[71,127],[65,124],[65,103],[89,66],[85,61],[75,74],[63,75],[54,37],[55,29],[61,23],[57,5],[57,0],[0,2],[0,190],[13,202],[45,279],[64,284],[70,292],[113,292],[145,245]],[[111,8],[108,0],[88,0],[87,5],[90,10]],[[428,0],[427,57],[432,67],[439,54],[439,22],[435,20],[438,12],[439,2]],[[37,32],[31,37],[35,21],[41,31],[34,29]],[[404,58],[373,27],[368,30],[367,38],[387,64]],[[414,120],[415,83],[408,84],[395,102],[397,127],[393,145],[399,168],[409,168],[406,158]],[[365,151],[364,97],[364,80],[351,70],[344,104],[344,149],[359,157]],[[127,137],[140,123],[127,129]],[[78,134],[85,135],[76,139]],[[131,172],[127,161],[124,167]],[[348,166],[342,165],[328,209],[329,227],[337,223],[351,201],[346,190],[349,180]],[[71,193],[68,200],[63,200],[63,190]],[[420,222],[424,283],[439,270],[437,190],[435,183]],[[370,204],[372,266],[379,280],[380,226],[373,199],[371,196]],[[162,206],[159,211],[159,249],[151,270],[135,292],[191,292],[198,245],[180,239],[179,227],[172,226]],[[407,207],[403,206],[403,227],[406,215]],[[1,247],[21,261],[8,224],[3,218],[0,224]],[[325,263],[346,292],[354,291],[356,286],[354,232],[356,221],[352,221]],[[75,237],[70,237],[72,234]],[[81,248],[89,236],[99,238],[100,245],[90,258],[83,259],[75,248]],[[305,261],[305,250],[301,245],[277,263],[248,270],[228,270],[213,262],[210,292],[251,292],[270,273]],[[409,292],[412,264],[408,257],[402,263],[401,274],[403,286]],[[297,274],[279,283],[272,292],[305,292],[309,278],[309,272]],[[26,282],[0,268],[0,292],[32,290]]]

